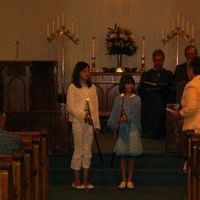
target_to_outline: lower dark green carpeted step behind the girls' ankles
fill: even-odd
[[[120,181],[117,169],[91,169],[90,179],[96,185],[116,185]],[[50,169],[49,183],[52,185],[70,185],[73,180],[71,169]],[[185,185],[185,174],[180,170],[135,170],[134,181],[143,186]]]

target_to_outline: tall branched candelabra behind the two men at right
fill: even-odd
[[[186,31],[185,27],[185,20],[182,18],[182,24],[180,24],[180,16],[177,14],[177,25],[174,25],[174,19],[172,19],[172,29],[170,29],[170,23],[167,23],[167,31],[166,34],[164,33],[164,27],[162,27],[162,43],[163,45],[170,42],[172,39],[176,39],[176,64],[179,64],[179,47],[180,47],[180,39],[183,39],[188,45],[192,45],[194,43],[194,26],[191,25],[191,34],[189,33],[190,24],[187,21]]]

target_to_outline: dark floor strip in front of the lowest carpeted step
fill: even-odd
[[[95,190],[77,191],[70,186],[50,185],[49,200],[185,200],[184,186],[138,186],[120,190],[115,186],[98,186]]]

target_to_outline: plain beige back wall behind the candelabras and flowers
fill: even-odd
[[[108,27],[118,23],[136,36],[137,54],[124,56],[124,67],[140,67],[142,36],[146,37],[146,67],[151,67],[152,51],[161,48],[166,53],[165,67],[174,70],[176,40],[165,46],[161,43],[161,27],[177,12],[194,24],[194,37],[200,46],[198,0],[1,0],[0,3],[0,60],[14,60],[16,41],[19,41],[19,60],[59,60],[61,41],[46,40],[46,25],[53,17],[65,12],[80,26],[80,42],[74,45],[65,39],[66,84],[75,63],[91,63],[92,37],[96,37],[97,68],[115,67],[116,57],[106,55],[105,36]],[[66,20],[65,20],[66,21]],[[181,40],[180,62],[186,43]],[[60,72],[58,72],[60,75]]]

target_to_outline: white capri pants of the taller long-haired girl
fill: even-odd
[[[92,158],[93,130],[92,126],[81,123],[72,123],[72,133],[74,139],[74,153],[71,160],[71,168],[80,170],[89,169]]]

